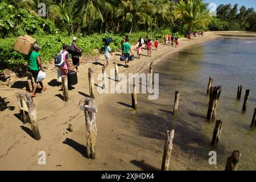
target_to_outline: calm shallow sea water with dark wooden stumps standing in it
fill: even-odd
[[[166,128],[174,129],[171,170],[224,170],[234,150],[242,153],[238,170],[256,170],[256,129],[250,127],[256,107],[255,40],[224,38],[196,44],[166,56],[153,71],[159,73],[158,100],[138,94],[136,113],[131,109],[117,113],[115,105],[130,104],[131,96],[115,94],[108,103],[113,119],[122,118],[120,122],[134,127],[142,137],[159,141],[155,144],[159,151],[163,151]],[[206,119],[210,76],[213,86],[222,85],[216,118],[223,124],[217,147],[210,145],[215,124]],[[236,99],[238,85],[243,86],[241,100]],[[242,112],[246,89],[250,95]],[[175,90],[181,94],[177,117],[172,115]],[[208,162],[210,151],[216,151],[216,165]]]

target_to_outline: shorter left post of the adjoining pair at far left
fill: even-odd
[[[28,109],[27,109],[27,103],[25,100],[25,94],[24,93],[16,93],[18,105],[19,105],[19,113],[20,113],[20,119],[22,120],[23,124],[26,124],[29,122],[28,118]]]

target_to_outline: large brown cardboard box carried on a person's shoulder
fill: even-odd
[[[29,35],[19,36],[15,43],[14,50],[28,55],[36,42],[36,39]]]

